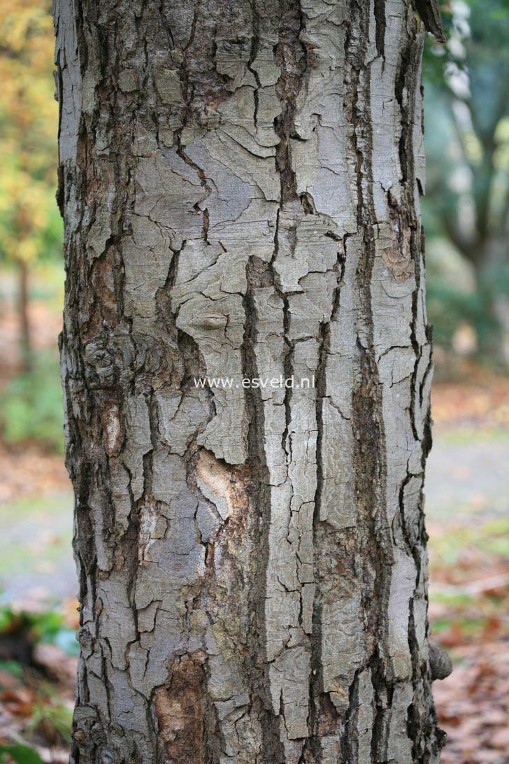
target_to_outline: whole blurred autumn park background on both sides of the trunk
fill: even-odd
[[[443,6],[424,55],[426,482],[444,764],[509,762],[509,0]],[[65,762],[77,643],[57,335],[53,24],[0,0],[0,761]],[[11,757],[9,759],[8,757]]]

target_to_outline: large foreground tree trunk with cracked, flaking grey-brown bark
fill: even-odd
[[[56,26],[72,761],[438,762],[410,2]]]

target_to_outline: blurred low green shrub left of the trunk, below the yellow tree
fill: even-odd
[[[36,440],[63,452],[62,390],[55,354],[39,354],[31,371],[8,383],[0,396],[0,427],[9,444]]]

